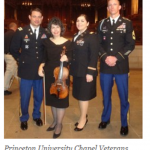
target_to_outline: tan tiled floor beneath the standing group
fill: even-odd
[[[4,97],[4,138],[5,139],[35,139],[46,138],[51,139],[53,131],[47,132],[46,129],[52,121],[50,107],[46,107],[47,123],[42,127],[37,127],[32,120],[33,99],[30,100],[28,121],[28,130],[20,129],[19,121],[19,85],[14,80],[11,89],[13,93]],[[79,117],[78,101],[72,97],[70,89],[70,106],[66,109],[63,120],[63,130],[59,138],[62,139],[141,139],[142,132],[142,70],[131,70],[129,79],[129,101],[130,101],[130,117],[129,117],[129,134],[127,136],[120,135],[120,101],[116,85],[113,87],[112,94],[112,115],[111,123],[104,130],[98,129],[102,113],[102,93],[97,79],[97,97],[90,101],[88,110],[88,123],[83,131],[75,132],[74,123]],[[43,111],[41,107],[41,111]],[[42,113],[43,119],[43,113]]]

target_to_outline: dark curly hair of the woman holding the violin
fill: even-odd
[[[59,18],[57,18],[57,17],[53,17],[49,21],[49,23],[47,25],[47,29],[48,29],[48,32],[50,33],[50,36],[53,36],[52,33],[51,33],[52,24],[60,26],[60,28],[61,28],[60,36],[62,36],[64,34],[64,32],[65,32],[65,27],[64,27],[62,21]]]

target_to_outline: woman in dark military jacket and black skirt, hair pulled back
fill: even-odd
[[[89,21],[81,14],[76,21],[79,30],[73,38],[73,58],[70,74],[73,76],[73,96],[79,100],[80,118],[75,131],[81,131],[86,123],[89,100],[96,97],[98,39],[88,31]]]

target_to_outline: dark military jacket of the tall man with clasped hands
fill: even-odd
[[[128,56],[135,48],[132,22],[120,16],[112,26],[110,18],[106,18],[99,23],[97,32],[100,42],[100,72],[108,74],[128,73]],[[107,56],[117,58],[115,66],[110,67],[105,63]]]

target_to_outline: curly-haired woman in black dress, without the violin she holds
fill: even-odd
[[[54,95],[50,95],[51,84],[55,82],[54,69],[60,66],[60,61],[68,61],[71,57],[71,42],[62,37],[64,33],[64,26],[61,20],[53,17],[48,23],[48,31],[50,38],[44,41],[45,56],[43,63],[39,67],[39,75],[44,76],[45,73],[45,92],[46,92],[46,105],[51,106],[53,122],[47,131],[54,131],[53,138],[57,138],[61,134],[62,121],[65,114],[65,108],[69,106],[69,95],[64,99],[58,99]],[[61,56],[63,48],[66,48],[66,55]],[[67,67],[68,63],[63,63]],[[69,77],[66,80],[69,86]]]

